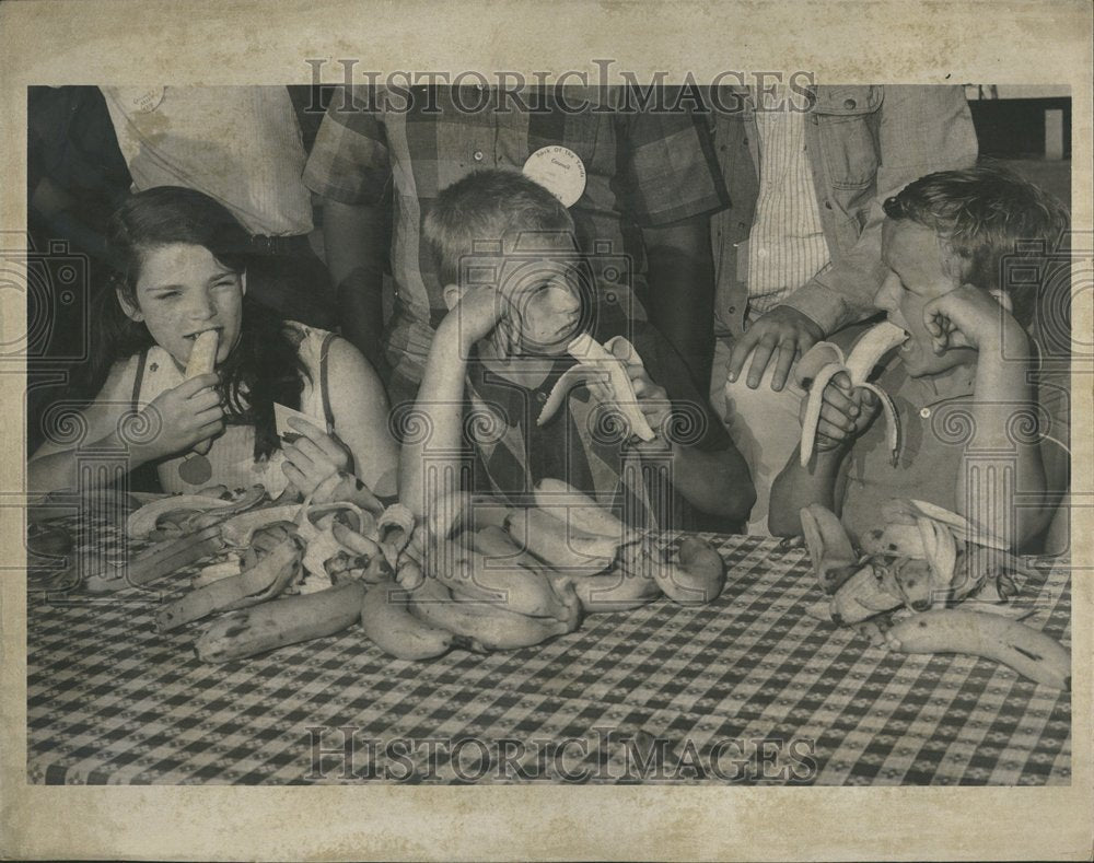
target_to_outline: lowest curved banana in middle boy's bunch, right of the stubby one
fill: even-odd
[[[427,579],[426,584],[430,581]],[[410,594],[410,610],[434,627],[464,637],[470,650],[481,653],[529,648],[577,628],[569,620],[528,617],[489,604],[444,602],[443,598],[432,598],[426,591]]]

